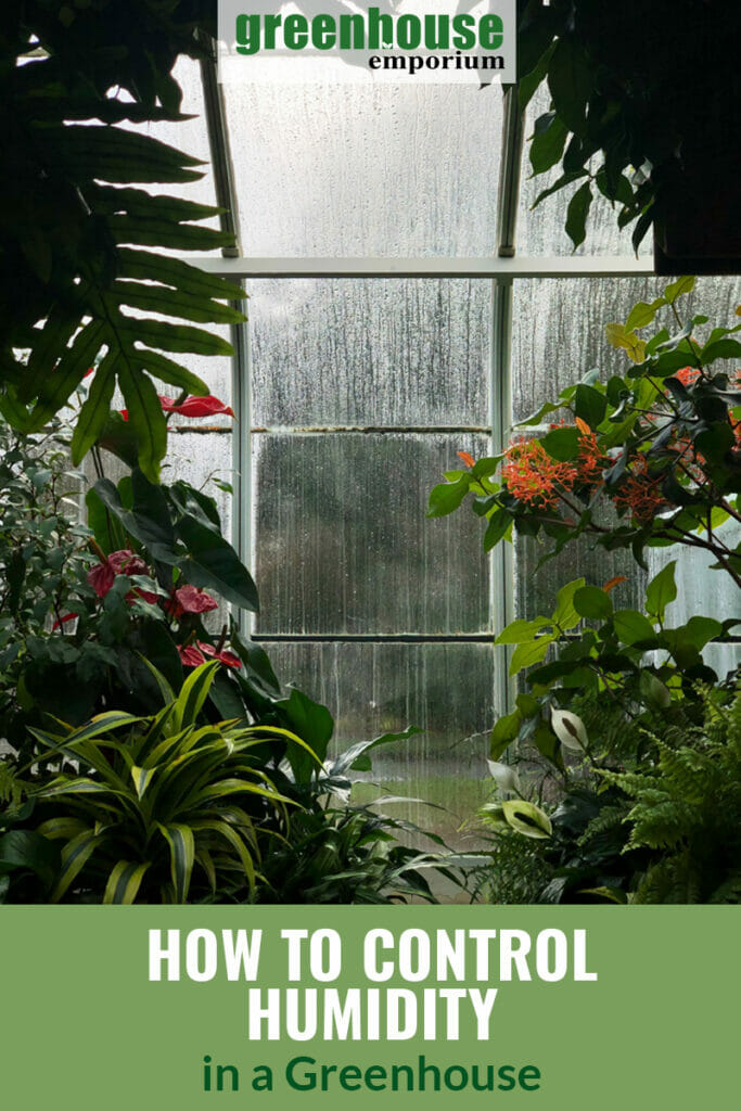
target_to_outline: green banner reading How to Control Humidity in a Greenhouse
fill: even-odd
[[[7,907],[3,1103],[697,1108],[738,908]]]

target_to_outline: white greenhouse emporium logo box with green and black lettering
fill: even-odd
[[[515,0],[219,0],[232,83],[511,84]]]

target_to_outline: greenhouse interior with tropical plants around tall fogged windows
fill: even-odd
[[[519,86],[221,84],[213,6],[146,81],[48,7],[3,46],[0,901],[738,902],[738,248],[667,266],[563,29]]]

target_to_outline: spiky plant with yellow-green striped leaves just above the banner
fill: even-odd
[[[289,760],[292,749],[316,758],[287,730],[200,724],[218,667],[197,668],[177,698],[159,677],[170,700],[153,717],[109,711],[79,729],[33,730],[42,754],[23,791],[36,837],[61,844],[50,902],[69,893],[182,903],[254,891],[262,843],[296,804],[276,789],[266,754],[274,760],[278,745]]]

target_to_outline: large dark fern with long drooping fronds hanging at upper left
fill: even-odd
[[[152,379],[208,394],[177,357],[230,353],[194,324],[241,321],[229,302],[243,294],[149,250],[233,237],[203,227],[218,209],[149,191],[198,179],[198,160],[121,124],[186,118],[171,71],[209,56],[216,14],[213,0],[9,0],[0,29],[0,412],[40,431],[98,360],[72,460],[102,434],[118,384],[151,482],[167,443]]]

